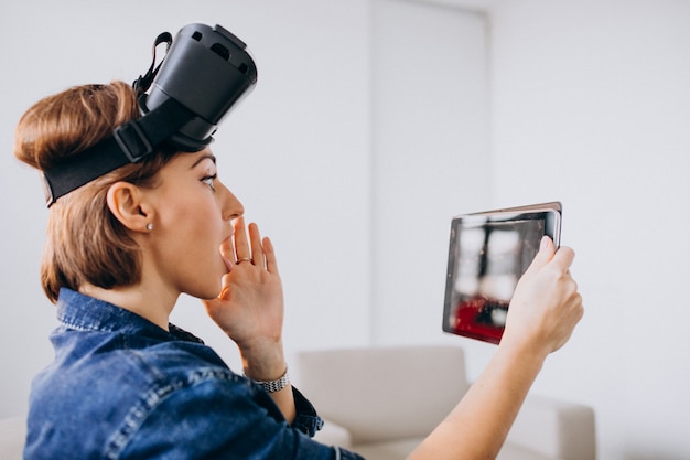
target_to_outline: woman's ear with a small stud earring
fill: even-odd
[[[108,208],[125,227],[132,232],[149,233],[152,215],[144,201],[144,193],[129,182],[116,182],[108,189]]]

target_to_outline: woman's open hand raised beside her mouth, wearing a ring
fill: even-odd
[[[220,246],[228,272],[216,299],[205,300],[208,315],[239,346],[245,373],[259,381],[285,371],[282,350],[283,293],[276,254],[256,224],[235,221],[235,234]]]

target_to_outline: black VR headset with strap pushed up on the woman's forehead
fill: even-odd
[[[166,44],[155,66],[155,50]],[[195,152],[213,141],[222,119],[254,89],[257,67],[247,45],[215,25],[188,24],[175,39],[161,33],[153,62],[132,85],[141,117],[112,136],[44,171],[48,207],[61,196],[166,145]]]

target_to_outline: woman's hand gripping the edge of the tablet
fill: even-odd
[[[547,354],[560,349],[583,315],[582,297],[570,275],[575,254],[556,250],[548,236],[520,278],[506,319],[502,344],[528,346]]]

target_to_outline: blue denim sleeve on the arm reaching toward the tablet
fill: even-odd
[[[323,424],[297,389],[288,424],[271,397],[246,381],[207,379],[174,388],[129,419],[112,459],[362,460],[312,436]],[[115,452],[110,452],[115,453]]]

